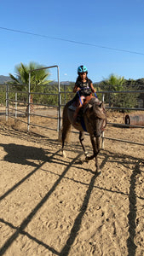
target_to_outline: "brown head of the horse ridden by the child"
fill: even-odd
[[[89,122],[89,133],[95,137],[100,137],[101,132],[104,131],[107,125],[107,116],[103,102],[92,99],[92,101],[89,101],[85,113]]]

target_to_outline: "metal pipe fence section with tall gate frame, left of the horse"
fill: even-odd
[[[50,69],[50,68],[56,68],[57,70],[57,82],[56,84],[56,91],[54,92],[41,92],[41,91],[32,91],[32,84],[31,84],[31,74],[33,71],[37,72],[38,70],[42,70],[42,69]],[[34,125],[34,126],[38,126],[38,127],[42,127],[44,129],[50,129],[50,130],[54,130],[54,131],[60,131],[60,125],[61,125],[61,95],[60,95],[60,71],[59,71],[59,67],[57,65],[55,66],[49,66],[49,67],[43,67],[43,68],[37,68],[35,70],[31,70],[29,72],[29,84],[27,86],[27,91],[21,91],[21,90],[17,90],[17,88],[14,90],[11,90],[11,86],[15,86],[14,84],[6,84],[6,121],[9,118],[12,119],[16,119],[19,120],[20,122],[23,122],[27,125],[27,131],[30,131],[30,126]],[[38,87],[39,85],[37,85]],[[49,84],[46,85],[42,85],[42,86],[46,86],[47,88],[49,87]],[[50,86],[52,87],[53,84]],[[18,99],[18,96],[24,95],[24,99]],[[49,104],[48,103],[41,103],[41,102],[32,102],[32,97],[35,96],[46,96],[46,97],[50,97],[50,96],[54,96],[55,98],[58,99],[57,104],[54,105],[53,103]],[[26,100],[27,99],[27,100]],[[20,107],[20,104],[25,105],[26,111],[23,109],[18,109],[18,104]],[[33,113],[32,109],[33,106],[35,107],[43,107],[43,108],[54,108],[55,109],[55,113],[57,113],[57,117],[53,117],[53,116],[48,116],[48,115],[43,115],[43,113]],[[27,119],[24,119],[24,116],[27,116]],[[52,127],[49,128],[48,126],[43,126],[41,124],[33,124],[32,123],[32,116],[35,117],[43,117],[43,118],[50,118],[50,119],[57,119],[57,127]],[[23,119],[20,117],[23,117]]]

